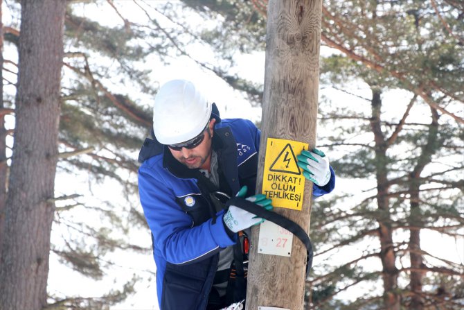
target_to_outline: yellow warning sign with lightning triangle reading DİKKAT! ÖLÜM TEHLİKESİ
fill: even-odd
[[[267,138],[262,193],[272,199],[274,207],[303,207],[305,177],[296,164],[296,155],[302,150],[307,150],[303,142]]]

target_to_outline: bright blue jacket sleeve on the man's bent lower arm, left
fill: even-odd
[[[171,264],[191,264],[235,243],[222,223],[224,212],[217,214],[214,223],[210,219],[192,227],[192,218],[177,205],[168,182],[150,167],[139,169],[139,194],[154,249]]]

